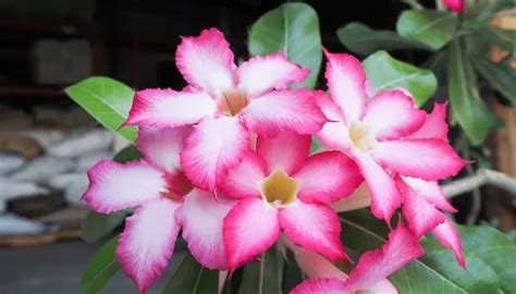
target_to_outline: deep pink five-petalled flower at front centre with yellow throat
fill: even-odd
[[[308,157],[310,136],[283,132],[259,136],[256,152],[219,183],[238,203],[224,218],[223,241],[231,270],[256,260],[280,232],[331,260],[346,257],[341,223],[330,204],[363,182],[355,163],[340,151]]]

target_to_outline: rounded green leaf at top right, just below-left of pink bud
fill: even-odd
[[[457,16],[449,11],[407,10],[397,20],[396,30],[438,50],[453,38],[457,22]]]

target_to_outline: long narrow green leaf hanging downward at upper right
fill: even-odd
[[[457,40],[449,49],[449,99],[452,111],[474,145],[482,144],[489,133],[503,124],[479,96],[477,78]]]

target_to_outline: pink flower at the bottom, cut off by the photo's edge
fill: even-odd
[[[294,248],[297,264],[310,279],[298,284],[291,294],[353,294],[361,293],[360,291],[370,294],[394,294],[397,291],[386,278],[422,254],[417,237],[401,222],[397,229],[389,234],[389,241],[381,249],[360,256],[349,275],[314,252]]]

